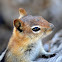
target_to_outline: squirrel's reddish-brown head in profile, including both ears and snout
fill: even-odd
[[[20,17],[15,19],[13,23],[13,33],[19,38],[44,38],[54,29],[54,25],[46,21],[42,16],[27,15],[26,11],[21,8],[19,9],[19,13]]]

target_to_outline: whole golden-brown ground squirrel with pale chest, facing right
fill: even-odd
[[[52,32],[54,25],[42,16],[27,15],[22,8],[19,13],[7,49],[0,57],[5,55],[5,62],[34,62],[39,55],[52,56],[44,50],[41,39]]]

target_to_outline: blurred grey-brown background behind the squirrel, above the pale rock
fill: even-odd
[[[43,39],[44,43],[62,29],[62,0],[0,0],[0,52],[11,37],[13,20],[19,17],[19,8],[33,16],[42,16],[55,25],[54,32]]]

